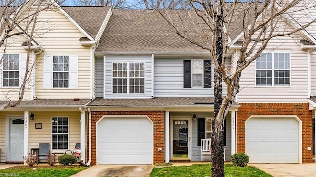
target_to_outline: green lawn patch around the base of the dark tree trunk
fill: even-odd
[[[225,164],[225,177],[272,177],[254,167],[237,167]],[[195,164],[192,166],[154,168],[150,177],[205,177],[211,176],[210,164]]]

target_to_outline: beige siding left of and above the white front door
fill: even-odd
[[[8,123],[7,123],[7,117],[8,116],[16,116],[21,117],[23,119],[24,112],[21,111],[14,111],[14,112],[7,112],[7,111],[1,111],[0,112],[0,149],[1,150],[1,162],[6,161],[6,133],[8,130]],[[8,144],[7,144],[8,145]]]

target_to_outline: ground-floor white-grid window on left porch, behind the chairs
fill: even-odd
[[[52,149],[68,149],[68,117],[52,118]]]

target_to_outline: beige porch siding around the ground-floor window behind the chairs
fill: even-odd
[[[49,143],[52,150],[52,117],[68,117],[68,149],[74,150],[75,144],[80,143],[80,111],[40,111],[33,112],[35,118],[29,124],[29,149],[38,148],[39,143]],[[35,129],[35,124],[41,123],[42,129]],[[65,152],[54,150],[54,152]]]

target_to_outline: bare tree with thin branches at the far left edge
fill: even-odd
[[[30,79],[32,69],[35,67],[35,63],[31,60],[31,45],[34,43],[33,36],[35,35],[35,26],[37,22],[38,14],[42,8],[40,8],[41,1],[36,2],[35,0],[5,0],[0,1],[0,49],[3,55],[0,59],[1,68],[10,69],[12,66],[11,59],[5,54],[8,47],[10,47],[10,39],[19,35],[24,35],[26,38],[27,55],[26,55],[26,66],[25,74],[21,78],[18,89],[10,88],[8,83],[7,93],[5,95],[5,101],[0,105],[0,111],[8,107],[18,106],[27,89],[27,82]],[[7,73],[9,74],[9,73]],[[10,81],[7,81],[10,82]],[[2,87],[2,85],[1,85]],[[10,92],[17,94],[17,98],[11,98]],[[4,94],[1,92],[0,94]]]

